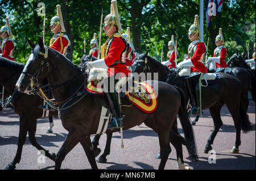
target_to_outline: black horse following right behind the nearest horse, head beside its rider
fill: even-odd
[[[133,64],[133,71],[137,73],[158,73],[160,81],[171,83],[183,89],[186,92],[188,100],[187,87],[184,86],[183,79],[179,77],[175,69],[168,69],[154,58],[147,56],[147,52],[139,55]],[[210,115],[213,118],[214,128],[212,134],[208,138],[204,153],[212,150],[213,140],[221,128],[221,108],[226,104],[230,114],[233,117],[236,127],[236,144],[232,149],[232,153],[238,153],[238,147],[241,145],[241,128],[243,132],[249,132],[252,125],[247,117],[245,107],[241,100],[242,85],[234,76],[220,73],[221,78],[213,85],[208,85],[201,89],[202,110],[209,108]],[[197,86],[197,90],[198,90]]]

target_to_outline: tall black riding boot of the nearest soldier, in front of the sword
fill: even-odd
[[[110,121],[108,129],[123,127],[123,116],[121,113],[121,106],[118,100],[117,92],[105,92],[108,98],[110,110],[113,113],[113,120]]]

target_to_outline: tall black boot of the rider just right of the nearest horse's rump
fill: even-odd
[[[185,78],[185,85],[188,88],[189,99],[192,105],[192,115],[200,115],[199,90],[196,90],[196,86],[199,84],[199,78],[200,74]]]

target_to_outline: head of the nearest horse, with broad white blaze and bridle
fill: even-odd
[[[30,90],[39,86],[39,82],[47,78],[49,74],[48,62],[48,47],[39,37],[38,45],[28,40],[28,44],[32,48],[30,56],[27,58],[27,63],[24,66],[22,74],[16,82],[16,87],[20,92],[30,94]],[[29,86],[30,85],[30,86]]]

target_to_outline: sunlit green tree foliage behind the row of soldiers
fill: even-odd
[[[7,1],[1,0],[0,24],[5,24],[6,16],[9,17],[11,29],[14,34],[14,41],[17,44],[17,51],[14,57],[19,62],[25,63],[31,48],[27,44],[27,39],[36,43],[39,36],[43,36],[43,17],[37,15],[38,0]],[[56,0],[42,1],[46,5],[46,32],[45,42],[49,44],[52,33],[49,30],[49,21],[56,15],[56,5],[60,4],[63,12],[64,22],[70,24],[69,37],[72,41],[73,57],[75,64],[80,63],[80,58],[84,54],[84,37],[86,39],[86,53],[89,53],[90,40],[93,33],[99,36],[101,9],[103,8],[103,18],[110,13],[109,0]],[[199,14],[200,1],[193,0],[139,0],[137,7],[131,6],[134,0],[118,0],[118,11],[123,28],[131,28],[131,40],[133,33],[140,33],[141,52],[149,50],[149,55],[160,61],[162,44],[163,61],[166,60],[168,52],[167,43],[172,35],[177,33],[177,51],[181,61],[183,54],[187,54],[190,43],[188,39],[188,28],[194,20],[194,16]],[[135,17],[137,22],[133,24],[131,12],[142,10]],[[204,15],[204,24],[206,24]],[[139,27],[141,32],[132,32],[134,26]],[[236,53],[237,50],[247,52],[247,42],[250,43],[250,56],[253,53],[255,43],[255,0],[253,1],[232,1],[226,0],[223,3],[221,14],[214,16],[210,27],[204,27],[204,41],[210,37],[208,56],[212,56],[215,37],[218,28],[222,28],[225,45],[228,48],[228,57]],[[67,27],[66,27],[67,29]],[[106,36],[102,30],[101,45],[105,43]],[[138,48],[138,47],[135,47]],[[226,60],[228,60],[226,58]]]

